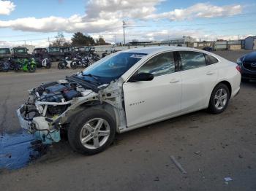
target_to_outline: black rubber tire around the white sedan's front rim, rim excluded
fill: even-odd
[[[80,132],[86,122],[89,122],[89,120],[95,118],[102,118],[108,122],[110,127],[110,135],[108,137],[108,140],[101,147],[89,149],[84,147],[81,143]],[[80,152],[83,155],[94,155],[107,149],[113,142],[116,135],[116,120],[114,120],[113,117],[104,109],[86,109],[73,118],[72,122],[69,125],[67,134],[69,144],[71,145],[72,149]]]

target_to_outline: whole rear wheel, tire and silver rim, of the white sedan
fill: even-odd
[[[230,99],[230,90],[227,85],[219,84],[214,87],[211,93],[210,102],[208,105],[209,112],[213,114],[219,114],[227,108],[228,101]]]

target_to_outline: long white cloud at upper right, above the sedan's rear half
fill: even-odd
[[[186,9],[174,9],[170,12],[162,12],[159,14],[148,15],[147,19],[163,19],[170,20],[191,20],[194,18],[210,18],[210,17],[228,17],[238,15],[242,12],[242,6],[226,5],[215,6],[210,3],[198,3]]]

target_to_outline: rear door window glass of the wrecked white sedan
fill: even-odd
[[[196,69],[206,66],[206,58],[201,52],[181,51],[181,70]]]

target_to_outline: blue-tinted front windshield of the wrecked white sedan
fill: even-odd
[[[135,52],[120,52],[113,57],[102,61],[83,71],[83,76],[93,75],[99,79],[101,83],[109,83],[113,79],[118,79],[135,63],[140,61],[147,54]]]

